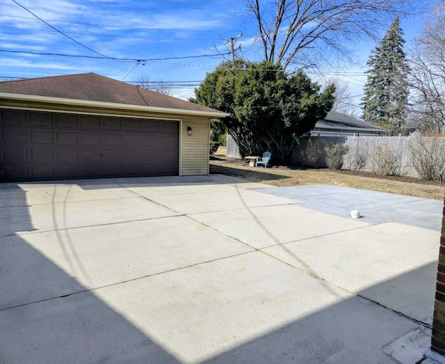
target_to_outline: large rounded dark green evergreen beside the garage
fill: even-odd
[[[207,74],[190,101],[231,114],[221,123],[241,155],[268,150],[274,161],[286,162],[296,137],[332,109],[334,92],[334,85],[322,91],[302,71],[288,75],[276,63],[236,60]]]

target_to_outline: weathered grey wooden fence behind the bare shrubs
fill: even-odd
[[[324,157],[326,148],[335,144],[343,144],[348,151],[343,155],[342,169],[373,171],[373,154],[375,155],[373,151],[380,148],[396,157],[398,161],[397,174],[419,177],[414,168],[413,150],[421,150],[425,140],[425,137],[418,136],[305,136],[298,139],[298,144],[292,150],[289,163],[316,168],[326,167]],[[437,155],[435,157],[437,164],[443,166],[445,163],[445,138],[436,138],[435,140],[439,140],[439,143],[432,152]],[[227,157],[241,158],[236,143],[229,135],[227,136]]]

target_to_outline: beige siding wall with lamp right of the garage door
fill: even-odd
[[[193,134],[187,134],[191,127]],[[209,118],[184,116],[182,119],[181,175],[209,173]]]

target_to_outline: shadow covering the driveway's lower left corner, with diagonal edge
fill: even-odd
[[[16,231],[35,230],[26,192],[14,191],[15,203],[24,206],[20,214],[16,207],[1,207],[1,216],[10,216],[1,223],[17,226]],[[31,264],[21,260],[30,254]],[[0,237],[0,263],[0,332],[8,333],[0,335],[0,363],[178,363],[19,235]],[[44,299],[26,299],[42,290]]]

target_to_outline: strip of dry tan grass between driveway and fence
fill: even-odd
[[[412,177],[381,176],[369,172],[330,171],[328,169],[273,166],[252,168],[243,159],[216,156],[210,161],[210,173],[220,173],[244,178],[270,186],[289,187],[305,184],[333,184],[444,200],[445,186],[437,182],[423,182]]]

